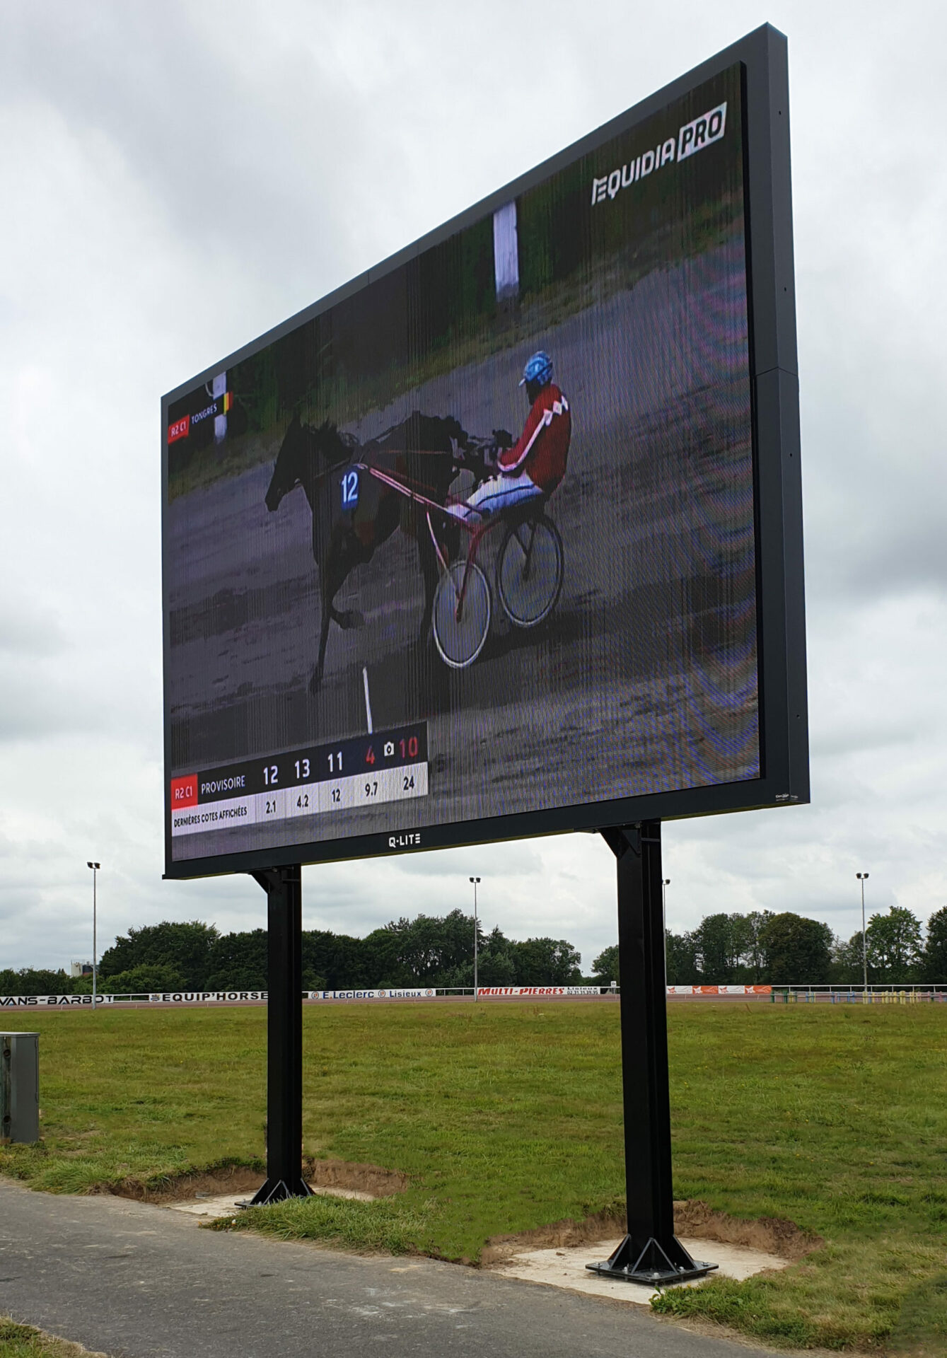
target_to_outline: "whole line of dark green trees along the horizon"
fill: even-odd
[[[473,986],[473,915],[393,919],[364,938],[327,929],[303,932],[303,989]],[[848,941],[829,925],[791,911],[705,915],[690,933],[666,932],[667,982],[679,985],[860,985],[861,930]],[[582,974],[565,938],[507,938],[477,922],[478,980],[484,986],[565,986],[618,980],[618,947]],[[865,929],[870,985],[947,985],[947,907],[927,929],[904,906],[874,914]],[[215,925],[143,925],[115,938],[99,963],[109,994],[167,990],[265,990],[266,930],[221,934]],[[26,967],[0,970],[0,994],[82,994],[90,978]]]

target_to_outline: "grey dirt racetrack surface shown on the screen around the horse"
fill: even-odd
[[[473,433],[515,433],[522,352],[539,344],[573,416],[549,508],[565,547],[562,595],[546,623],[518,631],[493,591],[486,648],[466,671],[417,645],[417,549],[395,534],[337,595],[364,626],[333,625],[310,697],[319,589],[302,492],[268,513],[266,463],[171,504],[168,555],[187,561],[170,595],[175,773],[363,733],[363,667],[375,729],[427,720],[429,748],[425,799],[186,835],[175,857],[757,775],[742,239],[656,269],[349,432],[365,440],[420,409]]]

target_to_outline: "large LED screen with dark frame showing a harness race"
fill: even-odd
[[[807,800],[780,42],[164,399],[170,876]]]

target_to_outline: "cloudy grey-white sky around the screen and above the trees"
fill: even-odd
[[[947,904],[944,10],[0,0],[0,967],[159,919],[159,398],[769,20],[789,38],[812,804],[664,827],[668,923]],[[308,868],[306,928],[470,906],[584,963],[594,837]]]

